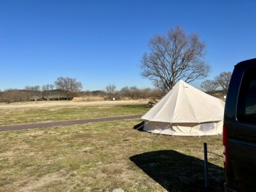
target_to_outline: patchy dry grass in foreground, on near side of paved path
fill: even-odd
[[[133,110],[112,107],[116,114]],[[158,138],[136,131],[140,123],[137,119],[0,132],[0,191],[223,190],[221,136]],[[211,152],[207,190],[204,142]]]

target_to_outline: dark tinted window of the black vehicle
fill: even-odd
[[[237,120],[256,123],[256,68],[244,72],[237,101]]]

